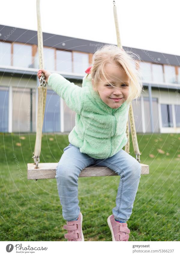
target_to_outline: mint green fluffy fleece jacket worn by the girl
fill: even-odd
[[[129,106],[126,101],[118,109],[110,108],[93,90],[91,74],[83,77],[82,87],[63,76],[52,73],[48,85],[76,112],[75,126],[68,135],[69,142],[81,153],[95,159],[115,155],[128,141],[126,124]]]

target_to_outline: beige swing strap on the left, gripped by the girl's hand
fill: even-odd
[[[36,11],[37,11],[37,22],[38,22],[38,52],[39,52],[39,68],[44,69],[44,58],[43,58],[43,33],[41,28],[41,13],[40,13],[40,0],[36,1]],[[46,105],[46,81],[44,80],[44,74],[40,78],[40,86],[38,87],[38,116],[37,116],[37,127],[36,127],[36,141],[34,150],[34,161],[35,168],[38,167],[40,162],[41,154],[41,140],[42,140],[42,128],[44,120],[44,112]]]

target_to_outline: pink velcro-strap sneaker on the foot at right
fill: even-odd
[[[127,223],[120,223],[114,219],[114,215],[107,218],[113,241],[128,241],[130,230]]]

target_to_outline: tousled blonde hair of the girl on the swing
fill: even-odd
[[[140,57],[136,54],[138,61],[133,57],[133,52],[125,52],[115,45],[105,45],[100,47],[92,57],[91,79],[94,80],[93,87],[95,90],[98,88],[98,82],[102,81],[100,75],[108,81],[105,75],[105,66],[116,62],[118,66],[123,68],[130,78],[129,95],[127,102],[131,103],[132,100],[140,97],[143,90],[142,79],[139,70],[136,68]],[[111,84],[112,85],[112,84]],[[115,87],[114,85],[112,85]],[[115,87],[116,88],[116,87]],[[99,94],[99,93],[98,93]]]

